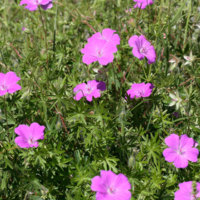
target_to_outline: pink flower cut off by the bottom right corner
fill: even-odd
[[[195,200],[200,197],[200,183],[197,182],[196,195],[192,194],[192,181],[180,183],[178,186],[180,189],[174,193],[174,200]]]

